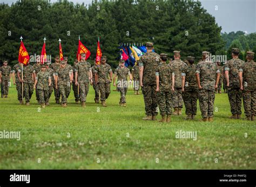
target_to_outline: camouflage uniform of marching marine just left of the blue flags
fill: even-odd
[[[130,75],[130,70],[126,67],[119,67],[114,70],[114,74],[117,75],[117,91],[120,92],[121,98],[120,103],[126,103],[125,96],[128,89],[129,83],[127,82],[127,76]]]

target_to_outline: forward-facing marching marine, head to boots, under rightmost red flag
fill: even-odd
[[[102,63],[95,67],[95,82],[100,91],[100,102],[106,106],[106,99],[110,95],[110,83],[112,82],[112,69],[106,63],[106,56],[102,56]]]

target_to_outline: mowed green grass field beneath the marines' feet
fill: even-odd
[[[21,140],[0,139],[0,169],[256,169],[255,121],[244,113],[228,119],[226,93],[215,97],[213,123],[199,121],[198,107],[194,121],[184,120],[183,108],[161,124],[142,120],[142,95],[130,89],[120,107],[112,90],[107,107],[94,103],[90,86],[84,109],[71,90],[68,107],[55,104],[52,93],[51,105],[38,112],[35,91],[30,106],[19,105],[12,85],[9,98],[0,98],[0,131],[20,131]],[[180,130],[196,131],[197,140],[177,139]]]

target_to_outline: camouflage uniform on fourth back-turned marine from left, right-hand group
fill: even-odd
[[[181,76],[185,76],[183,100],[186,108],[186,114],[188,116],[192,115],[192,117],[197,115],[198,85],[195,74],[196,65],[189,62],[181,73]]]

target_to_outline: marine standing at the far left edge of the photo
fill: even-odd
[[[11,67],[8,66],[8,62],[5,60],[3,66],[0,67],[0,83],[3,84],[4,98],[8,98],[10,80],[11,80]]]

